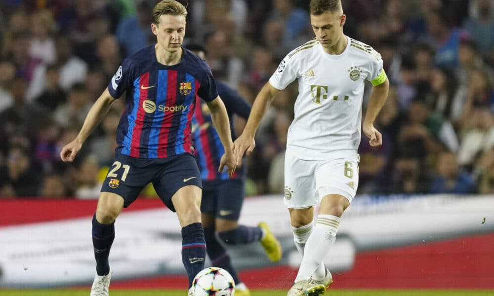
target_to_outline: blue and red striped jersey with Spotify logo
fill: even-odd
[[[216,83],[207,64],[182,47],[177,65],[156,60],[154,45],[124,60],[108,90],[124,92],[125,110],[117,128],[117,153],[139,158],[193,154],[191,120],[196,97],[212,101]]]

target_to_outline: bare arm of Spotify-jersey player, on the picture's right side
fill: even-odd
[[[237,163],[233,154],[233,141],[232,134],[230,131],[230,120],[228,118],[228,113],[226,112],[225,104],[221,101],[219,96],[216,99],[206,102],[209,111],[211,112],[211,120],[213,122],[214,128],[218,133],[221,140],[221,144],[225,148],[225,154],[221,157],[219,171],[223,170],[226,165],[228,167],[228,174],[231,177],[235,172]]]

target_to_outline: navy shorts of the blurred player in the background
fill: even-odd
[[[201,212],[212,213],[216,218],[237,221],[245,197],[243,179],[203,181]]]

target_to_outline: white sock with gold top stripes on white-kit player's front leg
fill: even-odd
[[[336,240],[340,220],[339,217],[332,215],[318,216],[316,227],[305,244],[304,256],[295,282],[308,280],[314,271],[323,265],[324,257]]]

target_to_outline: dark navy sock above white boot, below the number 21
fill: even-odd
[[[94,259],[96,259],[96,273],[107,275],[110,273],[110,248],[115,238],[115,222],[111,224],[101,224],[96,220],[96,214],[92,220],[92,238],[94,247]]]

